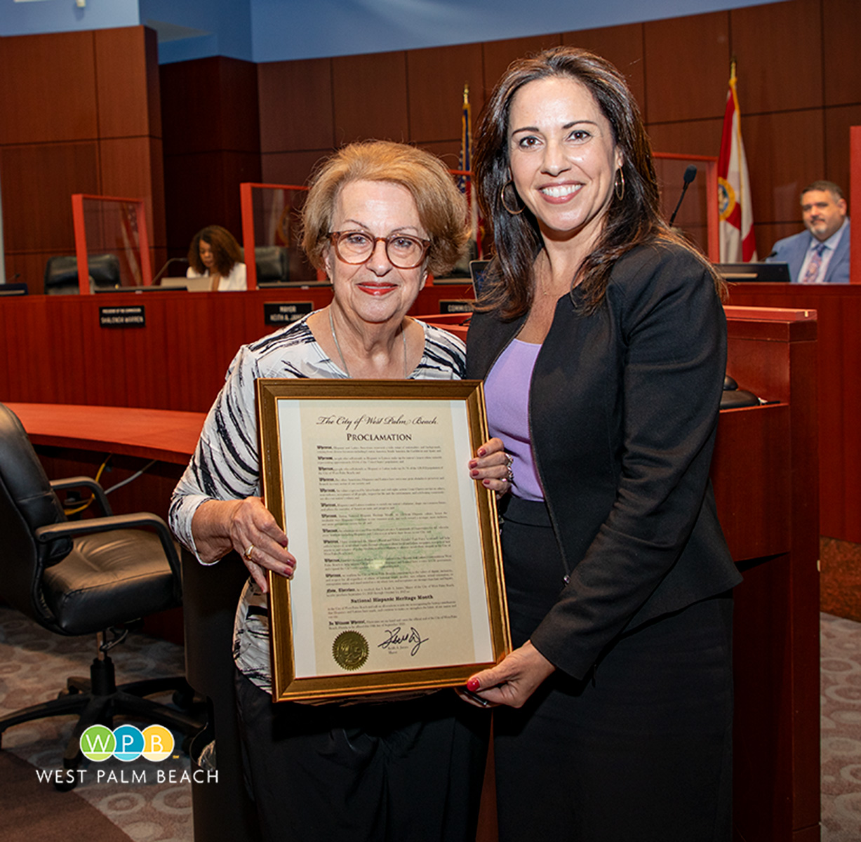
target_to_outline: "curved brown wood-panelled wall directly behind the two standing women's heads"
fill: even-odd
[[[825,177],[848,191],[849,127],[861,123],[859,40],[856,0],[788,0],[539,37],[263,63],[263,180],[302,183],[319,158],[357,138],[405,140],[456,167],[463,84],[475,119],[512,59],[557,44],[592,49],[627,75],[656,150],[716,156],[734,56],[755,231],[766,255],[801,230],[806,184]]]

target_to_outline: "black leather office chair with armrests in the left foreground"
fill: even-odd
[[[67,520],[55,491],[71,487],[94,494],[104,517]],[[145,698],[173,690],[174,702],[188,709],[193,694],[184,677],[118,687],[108,656],[125,636],[117,627],[180,603],[180,571],[160,517],[112,515],[102,487],[87,477],[49,482],[21,422],[0,404],[0,597],[58,635],[95,634],[98,642],[90,678],[70,678],[53,701],[0,719],[0,740],[21,722],[79,714],[63,759],[65,769],[76,769],[80,735],[90,725],[110,727],[115,715],[196,734],[202,723],[194,716]]]

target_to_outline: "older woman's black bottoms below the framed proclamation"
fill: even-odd
[[[245,775],[268,842],[474,842],[490,712],[408,702],[273,704],[237,672]]]

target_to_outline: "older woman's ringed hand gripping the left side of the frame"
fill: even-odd
[[[288,537],[259,497],[208,500],[192,521],[197,552],[204,562],[235,549],[263,593],[269,591],[266,571],[293,577],[296,559],[288,552]]]

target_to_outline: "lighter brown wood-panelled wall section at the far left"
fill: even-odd
[[[74,254],[71,194],[142,197],[164,253],[158,46],[144,27],[0,38],[6,276],[40,292],[48,257]]]

